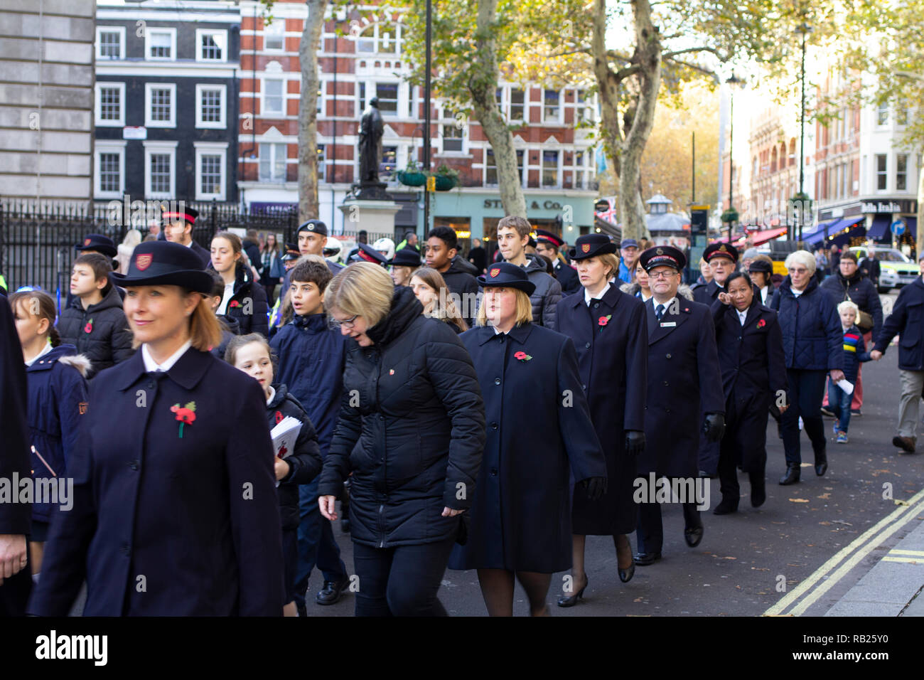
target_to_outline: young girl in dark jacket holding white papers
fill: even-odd
[[[289,394],[285,385],[273,386],[274,361],[270,345],[259,333],[236,336],[228,343],[225,361],[244,371],[260,383],[266,395],[266,414],[270,429],[286,416],[301,421],[301,429],[295,443],[295,450],[286,458],[276,453],[274,472],[276,495],[279,500],[279,514],[283,528],[283,557],[286,563],[286,616],[296,616],[295,581],[298,563],[298,485],[308,484],[321,472],[321,450],[318,435],[308,414]]]

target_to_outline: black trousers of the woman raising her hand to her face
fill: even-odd
[[[737,466],[750,476],[751,484],[763,484],[767,467],[767,418],[765,403],[737,404],[735,395],[725,402],[725,434],[719,454],[719,488],[722,498],[737,504],[741,496]]]

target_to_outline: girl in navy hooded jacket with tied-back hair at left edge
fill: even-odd
[[[74,345],[62,345],[55,328],[55,301],[43,291],[10,295],[16,329],[26,361],[27,414],[35,489],[56,490],[56,499],[33,496],[30,552],[32,574],[42,568],[53,504],[67,507],[71,500],[65,484],[67,459],[77,439],[80,415],[87,408],[87,372],[90,360]]]

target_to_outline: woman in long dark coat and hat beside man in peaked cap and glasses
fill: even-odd
[[[570,254],[582,288],[558,303],[555,315],[555,329],[574,340],[577,348],[581,387],[606,455],[609,479],[606,495],[599,501],[575,493],[571,511],[575,582],[558,601],[562,607],[576,604],[587,586],[588,534],[613,537],[621,581],[635,573],[628,534],[638,524],[632,494],[636,456],[645,446],[648,326],[645,303],[609,282],[619,271],[615,252],[615,244],[602,234],[577,239]]]

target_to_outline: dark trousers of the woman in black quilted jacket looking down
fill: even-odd
[[[357,616],[446,616],[436,597],[456,534],[435,543],[370,548],[353,541]]]

